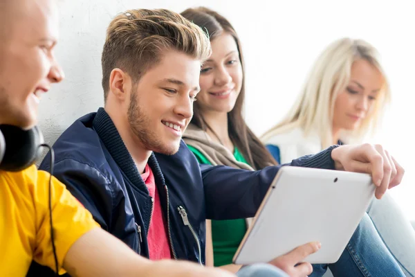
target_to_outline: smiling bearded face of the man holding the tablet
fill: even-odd
[[[200,70],[200,60],[165,51],[160,62],[132,87],[128,121],[145,149],[163,154],[178,151],[193,116]]]

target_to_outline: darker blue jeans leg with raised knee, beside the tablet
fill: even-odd
[[[323,276],[327,267],[335,277],[405,277],[367,213],[340,259],[331,265],[313,265],[310,277]]]

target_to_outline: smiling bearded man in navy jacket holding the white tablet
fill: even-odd
[[[252,217],[279,170],[199,167],[181,141],[209,55],[208,37],[175,12],[118,15],[102,53],[105,106],[76,120],[54,145],[57,179],[103,229],[151,260],[203,264],[206,218]],[[371,173],[381,197],[403,175],[386,157],[379,146],[333,146],[291,165]],[[41,168],[49,167],[46,157]],[[299,261],[317,248],[306,244],[271,264],[306,276],[311,265]]]

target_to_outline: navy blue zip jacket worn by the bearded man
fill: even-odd
[[[54,175],[94,219],[142,256],[153,202],[111,118],[100,108],[66,129],[55,145]],[[331,150],[292,166],[333,169]],[[49,170],[50,153],[39,169]],[[167,222],[172,256],[205,262],[205,220],[253,217],[279,166],[257,172],[199,165],[181,141],[178,152],[149,159]]]

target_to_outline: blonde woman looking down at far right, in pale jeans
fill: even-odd
[[[339,39],[317,59],[291,111],[261,140],[280,163],[361,142],[374,133],[390,98],[376,49],[360,39]],[[386,194],[367,212],[405,274],[415,276],[415,231],[398,205]]]

